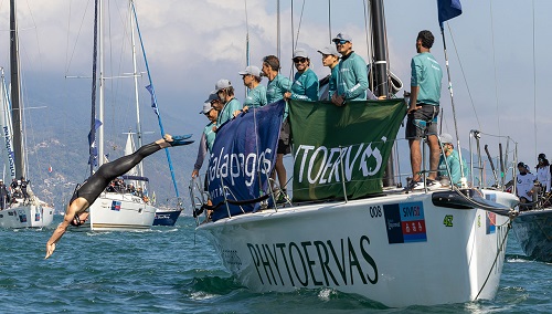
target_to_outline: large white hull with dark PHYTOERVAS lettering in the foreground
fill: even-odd
[[[417,221],[408,221],[416,208]],[[246,213],[198,230],[253,291],[327,286],[394,307],[495,297],[509,218],[488,217],[482,209],[434,206],[432,193],[397,193]]]

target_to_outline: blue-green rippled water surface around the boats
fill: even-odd
[[[253,293],[189,217],[144,232],[70,232],[43,260],[61,218],[0,229],[0,313],[552,313],[552,264],[526,259],[512,232],[493,301],[386,308],[329,289]]]

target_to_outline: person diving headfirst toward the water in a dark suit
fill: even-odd
[[[86,221],[88,212],[85,212],[85,210],[98,198],[113,179],[132,169],[132,167],[138,165],[144,158],[162,148],[192,144],[193,140],[189,140],[191,134],[183,136],[171,136],[166,134],[163,138],[144,145],[134,154],[123,156],[102,165],[94,175],[75,189],[67,209],[65,210],[63,221],[57,226],[52,237],[46,242],[46,255],[44,259],[50,258],[54,253],[55,244],[62,239],[70,224],[81,226]]]

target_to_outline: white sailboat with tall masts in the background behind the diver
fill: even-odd
[[[130,1],[131,2],[131,1]],[[102,42],[103,38],[103,1],[98,1],[98,54],[97,57],[99,60],[99,115],[98,121],[104,122],[104,85],[106,77],[104,76],[104,57],[103,50],[104,45]],[[141,128],[140,128],[140,114],[139,114],[139,101],[138,101],[138,82],[137,76],[139,75],[136,70],[136,49],[135,49],[135,33],[134,33],[134,19],[131,14],[131,6],[129,6],[129,17],[130,17],[130,35],[131,35],[131,44],[132,44],[132,63],[134,63],[134,77],[135,77],[135,101],[136,101],[136,114],[137,114],[137,134],[138,134],[138,145],[141,146]],[[95,103],[93,102],[93,106]],[[93,109],[93,118],[95,119],[95,114]],[[92,127],[94,135],[96,127]],[[97,148],[98,156],[104,155],[104,125],[100,124],[97,127],[98,138],[97,138]],[[95,138],[95,136],[92,136]],[[128,134],[127,145],[125,155],[132,154],[136,149],[136,146],[132,140],[131,133]],[[103,157],[98,159],[98,167],[100,167],[105,160]],[[141,163],[130,170],[130,174],[127,174],[127,179],[130,179],[135,184],[134,187],[141,187],[144,191],[145,182],[148,180],[144,177]],[[137,176],[138,175],[138,176]],[[123,177],[125,178],[125,177]],[[128,189],[129,185],[126,188],[120,190],[110,190],[104,191],[96,201],[89,207],[89,219],[83,224],[82,229],[84,230],[96,230],[96,231],[110,231],[110,230],[144,230],[149,229],[155,219],[156,208],[149,203],[149,200],[138,191]],[[78,228],[76,228],[78,229]]]

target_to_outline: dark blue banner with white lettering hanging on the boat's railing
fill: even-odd
[[[247,201],[268,193],[268,178],[276,163],[285,102],[251,108],[219,126],[209,159],[209,193],[213,205],[225,199]],[[227,203],[231,214],[251,212],[258,203]],[[213,221],[229,217],[223,205]]]

